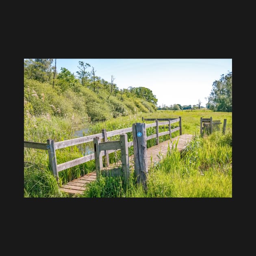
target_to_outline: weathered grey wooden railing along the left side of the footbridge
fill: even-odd
[[[148,119],[144,119],[144,120],[148,121]],[[158,122],[157,119],[152,119],[152,120],[156,121],[156,122],[152,123],[152,124],[145,124],[145,128],[156,127],[156,134],[145,137],[146,140],[156,138],[156,143],[158,144],[160,136],[169,134],[171,137],[171,133],[175,132],[177,130],[180,130],[180,135],[181,135],[181,117],[176,118],[176,119],[175,118],[165,119],[165,120],[167,120],[165,122]],[[175,123],[175,122],[179,122],[179,127],[171,129],[171,124]],[[158,130],[159,126],[165,126],[165,125],[169,126],[169,130],[166,132],[159,132],[159,130]],[[122,158],[122,160],[124,160],[126,158],[126,151],[124,151],[124,149],[122,151],[122,148],[124,148],[124,147],[129,148],[129,147],[133,146],[133,141],[129,141],[129,142],[126,141],[126,143],[124,143],[124,142],[119,142],[119,141],[108,141],[107,138],[115,136],[115,135],[120,135],[120,139],[121,139],[121,138],[123,138],[124,134],[126,135],[127,132],[132,132],[132,127],[124,128],[124,129],[120,129],[120,130],[113,130],[113,131],[109,131],[109,132],[106,132],[106,129],[102,129],[102,133],[79,137],[76,139],[69,139],[66,141],[54,142],[54,140],[52,140],[52,139],[48,139],[47,143],[24,141],[24,148],[35,148],[35,149],[41,149],[41,150],[48,150],[49,163],[50,163],[50,167],[52,170],[52,174],[56,177],[56,180],[59,182],[59,174],[58,174],[59,171],[63,171],[65,169],[74,167],[76,165],[80,165],[82,163],[86,163],[88,161],[94,160],[95,155],[101,159],[101,160],[96,159],[96,161],[95,161],[95,163],[97,163],[98,166],[100,166],[100,168],[103,165],[103,163],[101,163],[102,157],[105,156],[104,161],[106,163],[106,166],[109,166],[108,154],[113,153],[116,150],[121,150],[121,152],[123,152],[123,153],[121,153],[121,158]],[[98,149],[97,149],[98,151],[96,152],[96,154],[95,154],[95,148],[94,148],[94,154],[89,154],[87,156],[82,156],[80,158],[76,158],[74,160],[71,160],[71,161],[68,161],[65,163],[57,164],[56,152],[55,152],[56,150],[74,146],[74,145],[79,145],[82,143],[91,142],[91,141],[93,141],[93,143],[96,143],[95,138],[97,138],[98,145],[99,145]],[[101,142],[101,139],[103,140],[103,142]],[[120,147],[121,143],[123,143],[122,148]],[[122,162],[124,162],[124,166],[125,166],[126,165],[125,160]],[[124,167],[124,169],[125,168],[126,167]],[[123,170],[123,173],[126,175],[126,169],[125,169],[125,171]]]

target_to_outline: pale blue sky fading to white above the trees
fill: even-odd
[[[232,72],[232,59],[56,59],[57,71],[65,67],[76,75],[79,61],[94,67],[95,75],[113,81],[119,89],[146,87],[157,106],[180,104],[206,106],[213,82]]]

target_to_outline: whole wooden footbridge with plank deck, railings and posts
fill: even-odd
[[[142,117],[142,121],[143,123],[133,124],[130,128],[108,132],[106,129],[103,129],[102,133],[99,134],[79,137],[66,141],[54,142],[52,139],[48,139],[47,143],[24,141],[24,147],[48,150],[50,167],[58,182],[59,171],[63,171],[70,167],[95,159],[95,171],[61,186],[61,191],[65,191],[70,194],[83,193],[83,191],[86,189],[86,185],[95,180],[100,174],[109,176],[123,176],[124,180],[127,180],[131,171],[134,171],[137,177],[137,182],[141,182],[143,185],[145,185],[148,170],[159,163],[167,155],[168,150],[170,150],[170,152],[173,150],[173,148],[177,148],[178,151],[184,150],[187,144],[192,140],[193,135],[182,135],[181,117],[170,119],[143,119]],[[146,124],[144,121],[154,121],[154,123]],[[202,120],[201,118],[201,130],[202,121],[208,120]],[[177,127],[175,127],[174,124],[177,122],[179,124]],[[147,128],[150,129],[148,136],[146,132]],[[159,132],[159,130],[164,131]],[[180,135],[171,138],[172,133],[178,130]],[[132,141],[128,142],[127,134],[129,132],[132,133]],[[120,140],[108,141],[108,138],[116,135],[120,135]],[[159,143],[159,137],[164,135],[168,135],[170,139]],[[156,139],[156,145],[147,148],[147,141],[154,138]],[[94,154],[82,156],[66,163],[57,164],[56,150],[88,143],[90,141],[93,141]],[[133,146],[134,155],[129,156],[128,148],[131,146]],[[109,154],[116,152],[117,150],[121,150],[121,160],[115,164],[109,164]]]

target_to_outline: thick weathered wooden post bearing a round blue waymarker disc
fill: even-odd
[[[132,124],[132,139],[134,152],[134,171],[137,183],[142,183],[146,189],[147,175],[148,175],[148,160],[147,160],[147,134],[146,124],[136,123]]]

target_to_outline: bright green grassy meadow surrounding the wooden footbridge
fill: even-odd
[[[142,122],[142,117],[181,117],[182,134],[192,134],[194,139],[182,154],[173,150],[149,170],[146,190],[136,184],[133,173],[126,184],[121,177],[100,176],[90,182],[85,193],[79,197],[232,197],[232,112],[160,110],[137,113],[89,124],[88,135],[100,133],[103,128],[111,131],[131,127],[135,122]],[[200,117],[221,120],[220,131],[201,137]],[[225,135],[222,134],[223,119],[227,119]],[[161,131],[163,130],[159,130]],[[153,132],[154,130],[147,129],[147,136]],[[174,132],[172,137],[178,135],[178,132]],[[60,117],[24,119],[24,141],[46,143],[49,138],[63,141],[73,137],[72,125]],[[112,139],[119,138],[117,136]],[[160,139],[163,141],[169,138],[165,135]],[[128,141],[130,140],[131,135],[128,134]],[[154,144],[155,139],[147,142],[148,147]],[[132,153],[131,147],[129,154]],[[58,164],[81,156],[81,150],[76,146],[56,150]],[[118,154],[110,155],[112,163],[118,158]],[[94,160],[74,166],[59,172],[60,182],[65,184],[94,170]],[[69,197],[59,190],[50,171],[48,153],[44,150],[24,148],[24,197]]]

